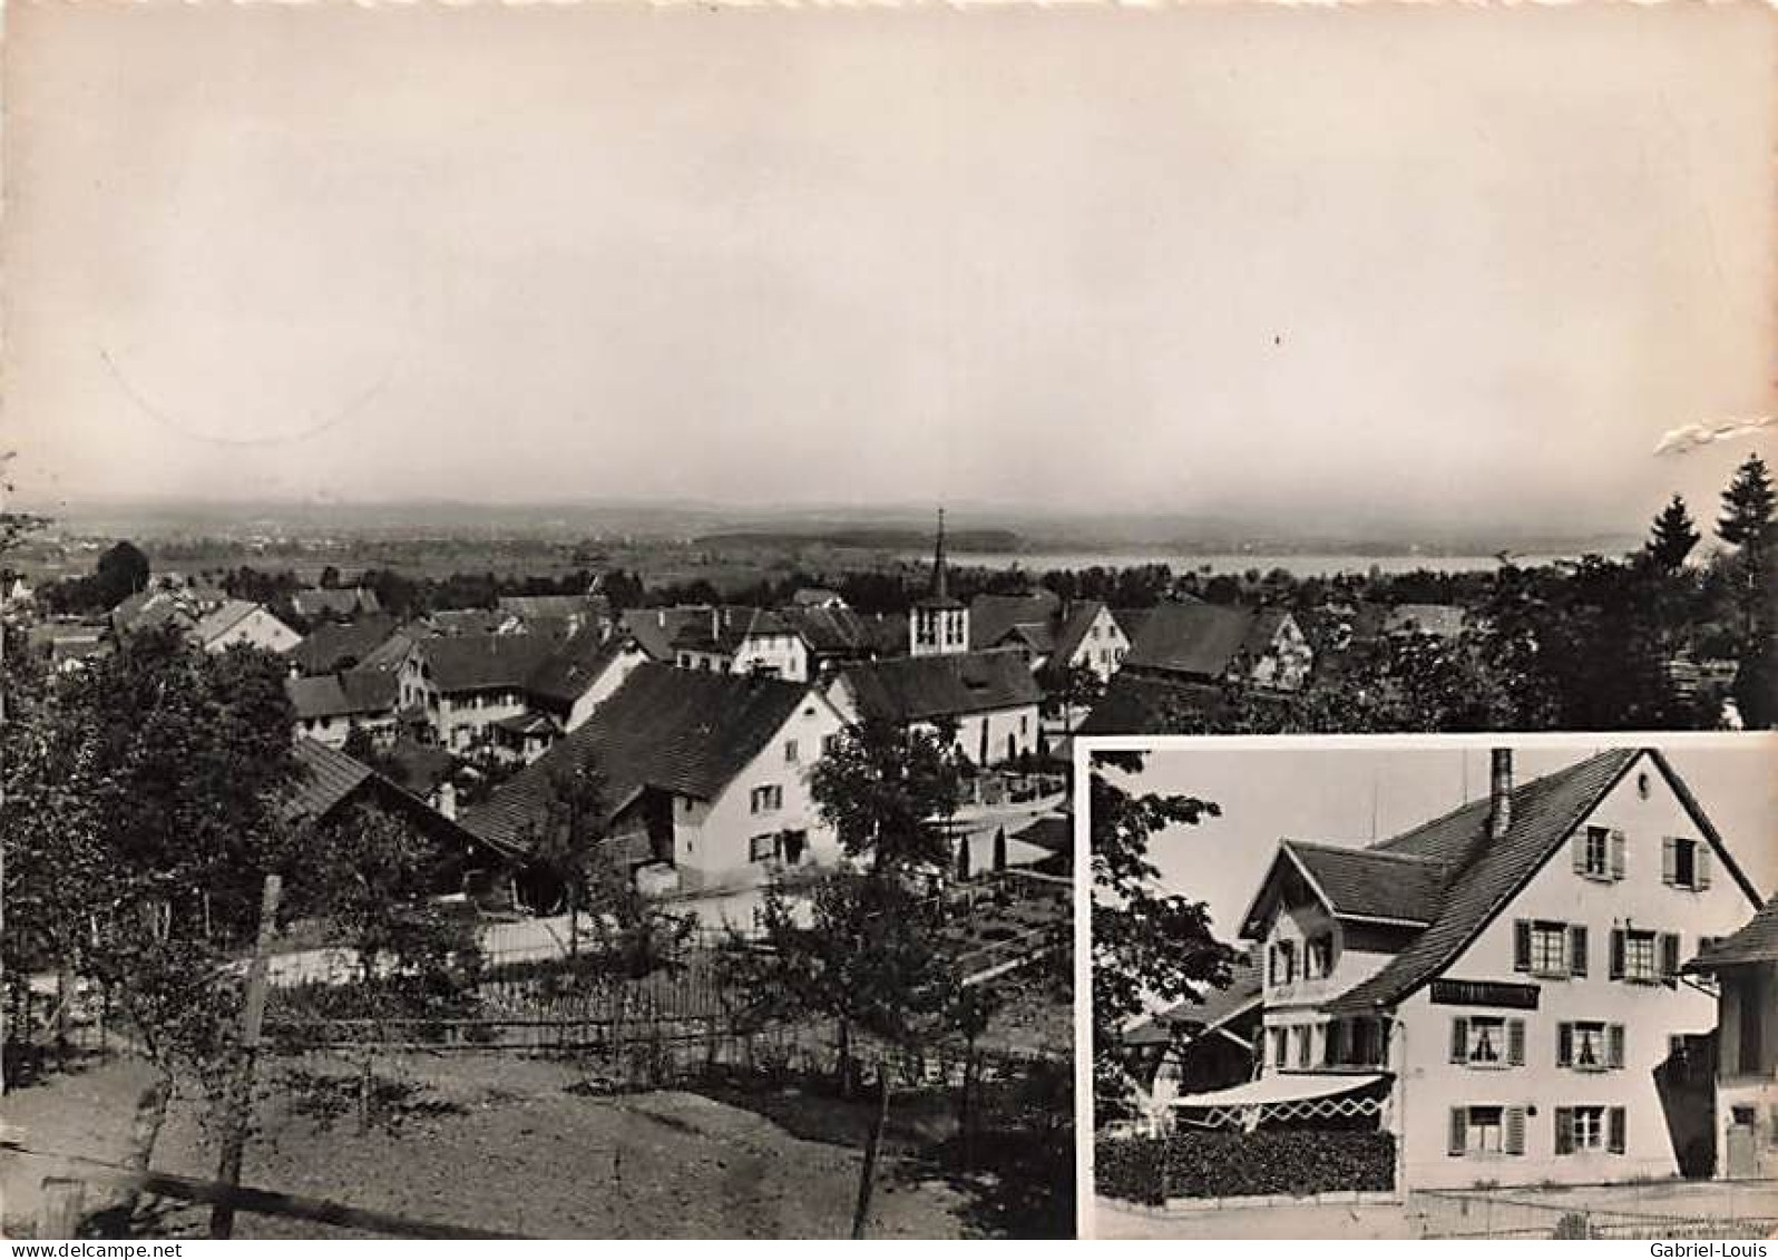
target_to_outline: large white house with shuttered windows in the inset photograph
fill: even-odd
[[[1369,848],[1280,844],[1241,929],[1261,1075],[1175,1107],[1374,1114],[1405,1187],[1670,1176],[1707,1104],[1684,1061],[1716,1025],[1680,961],[1750,906],[1661,752],[1515,787],[1497,750],[1486,800]]]

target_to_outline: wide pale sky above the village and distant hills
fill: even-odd
[[[1764,5],[14,5],[36,499],[1700,517]]]

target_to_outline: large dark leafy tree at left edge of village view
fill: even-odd
[[[156,1066],[139,1104],[146,1164],[180,1082],[212,1100],[238,1052],[235,949],[263,874],[288,869],[300,773],[283,663],[220,656],[171,626],[75,675],[12,690],[0,812],[9,974],[100,983]]]

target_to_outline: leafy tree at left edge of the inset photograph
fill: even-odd
[[[1221,810],[1195,796],[1129,791],[1140,754],[1099,754],[1090,771],[1093,1114],[1129,1112],[1122,1036],[1152,1006],[1202,999],[1229,983],[1236,953],[1211,933],[1209,908],[1159,889],[1150,842]]]

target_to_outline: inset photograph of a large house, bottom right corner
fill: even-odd
[[[1774,754],[1083,750],[1083,1232],[1767,1237]]]

